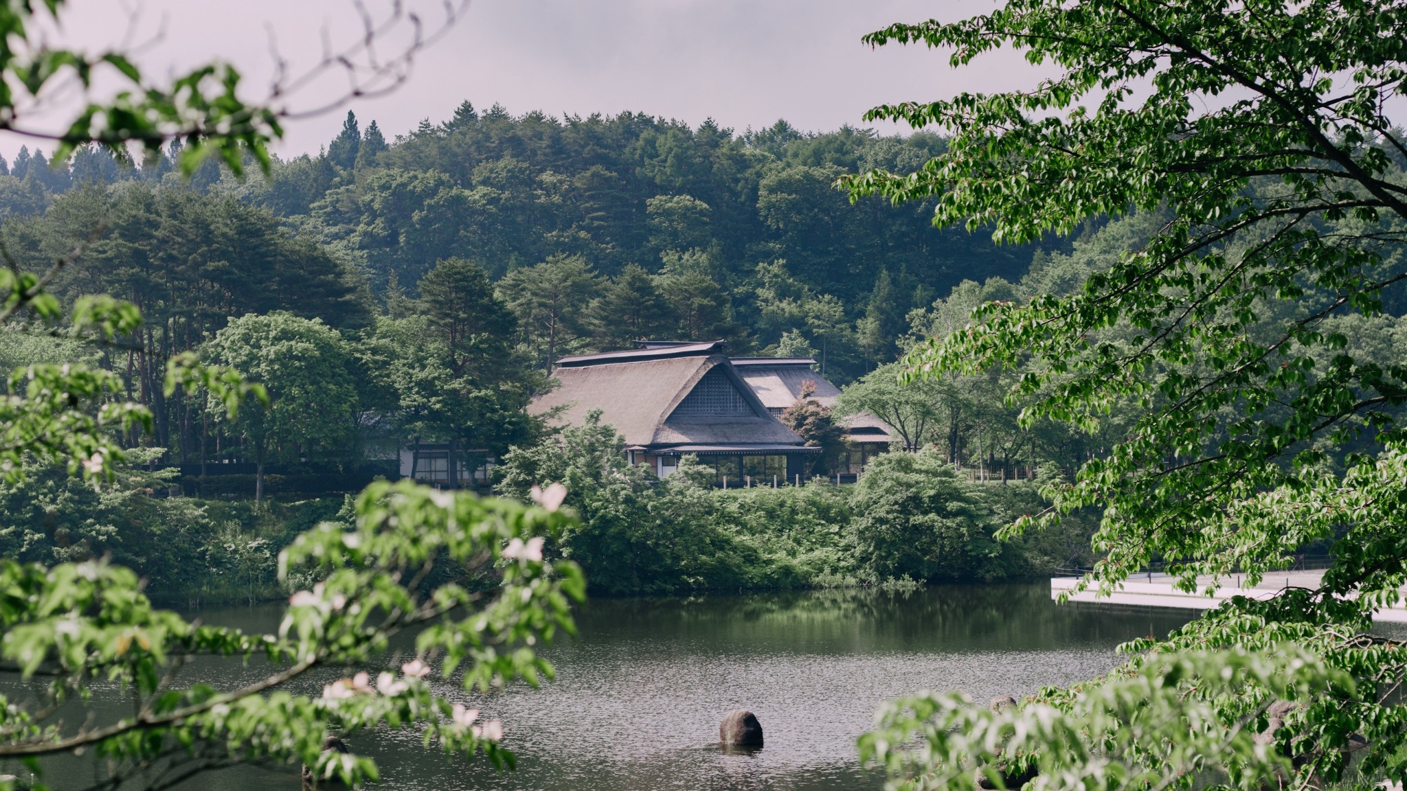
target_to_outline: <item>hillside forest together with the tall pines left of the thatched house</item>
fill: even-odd
[[[207,160],[183,180],[174,144],[138,166],[96,148],[61,163],[21,149],[0,160],[0,232],[25,267],[72,256],[61,298],[107,293],[142,310],[141,338],[82,353],[152,408],[152,436],[131,441],[166,448],[167,463],[346,467],[408,436],[501,453],[532,438],[522,405],[563,353],[726,338],[737,355],[815,355],[843,384],[892,362],[908,314],[961,280],[1019,279],[1034,246],[937,231],[931,205],[853,205],[834,186],[847,172],[917,167],[943,146],[785,121],[734,134],[643,114],[481,114],[466,101],[394,141],[349,113],[319,155],[276,160],[267,177]],[[235,317],[277,312],[263,331],[279,341],[218,339]],[[288,343],[321,336],[307,322],[335,331],[335,359],[279,367]],[[276,403],[340,393],[318,379],[328,366],[350,386],[336,415],[273,432],[222,425],[200,398],[162,396],[165,359],[186,350],[265,360]],[[52,356],[30,336],[0,348],[10,366]]]

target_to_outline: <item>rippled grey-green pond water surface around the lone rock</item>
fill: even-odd
[[[277,609],[201,616],[267,629]],[[1057,605],[1048,583],[597,600],[577,618],[580,636],[545,652],[557,667],[554,683],[485,697],[443,690],[504,721],[516,771],[447,763],[404,730],[363,733],[352,746],[377,760],[381,787],[394,790],[879,788],[881,777],[858,767],[854,745],[881,701],[930,688],[985,702],[1079,681],[1109,670],[1120,642],[1166,635],[1190,616]],[[190,680],[229,685],[259,671],[205,667]],[[308,678],[303,690],[325,681]],[[719,750],[718,722],[733,708],[757,715],[764,749]],[[63,778],[91,778],[73,759],[51,773],[61,788]],[[298,780],[241,767],[187,787],[294,790]]]

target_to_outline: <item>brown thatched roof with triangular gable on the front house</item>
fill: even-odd
[[[584,355],[559,360],[550,393],[533,414],[560,410],[559,424],[581,425],[601,410],[601,422],[628,445],[663,450],[675,445],[734,446],[737,452],[777,452],[802,439],[782,425],[739,377],[720,343],[691,343]]]

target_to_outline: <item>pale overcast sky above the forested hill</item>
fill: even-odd
[[[384,14],[391,0],[366,0]],[[438,0],[407,0],[431,27]],[[501,103],[511,113],[552,115],[623,110],[705,118],[743,131],[778,118],[810,131],[862,125],[884,101],[936,99],[960,90],[1030,84],[1010,52],[981,68],[953,70],[946,55],[895,45],[871,51],[860,37],[895,21],[951,20],[993,0],[473,0],[467,14],[415,62],[391,96],[350,106],[363,128],[378,121],[387,138],[422,118],[439,122],[460,101]],[[131,20],[138,20],[135,25]],[[145,42],[139,63],[155,76],[212,58],[235,63],[259,99],[272,75],[269,31],[294,73],[333,42],[356,38],[352,0],[70,0],[55,38],[83,48]],[[160,31],[160,37],[152,37]],[[297,108],[339,96],[335,79],[293,100]],[[280,155],[317,152],[343,111],[290,124]],[[58,114],[55,114],[58,118]],[[886,132],[895,129],[886,128]],[[0,137],[13,158],[23,142]],[[45,146],[52,148],[52,146]]]

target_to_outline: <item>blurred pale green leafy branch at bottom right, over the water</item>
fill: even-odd
[[[891,777],[913,777],[908,787],[916,790],[1026,781],[1031,790],[1161,790],[1210,767],[1240,788],[1276,787],[1304,757],[1285,749],[1268,711],[1301,712],[1294,701],[1355,688],[1345,673],[1294,646],[1154,653],[1021,708],[976,709],[960,694],[892,701],[860,750]]]

